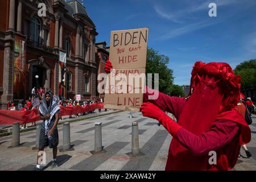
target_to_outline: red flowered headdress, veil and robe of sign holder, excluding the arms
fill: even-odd
[[[242,126],[240,142],[249,142],[250,129],[241,115],[233,109],[240,96],[240,76],[234,75],[232,68],[226,63],[205,64],[199,61],[195,63],[191,75],[191,92],[179,115],[179,125],[193,134],[201,135],[214,122],[229,120]],[[193,156],[173,138],[166,169],[230,169],[236,164],[239,151],[239,141],[218,149],[217,166],[210,166],[208,154]]]

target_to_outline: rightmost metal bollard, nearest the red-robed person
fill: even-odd
[[[131,129],[131,155],[135,156],[139,154],[139,130],[138,123],[133,122]]]

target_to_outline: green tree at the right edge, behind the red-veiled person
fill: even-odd
[[[240,75],[241,89],[256,88],[256,59],[243,61],[234,69],[236,75]]]

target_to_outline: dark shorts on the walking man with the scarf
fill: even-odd
[[[51,128],[53,123],[51,122],[49,127]],[[58,134],[58,129],[55,127],[51,139],[48,139],[46,135],[46,129],[44,127],[44,122],[42,123],[41,131],[40,131],[40,139],[39,139],[39,147],[48,147],[49,148],[54,148],[57,147],[59,144],[59,134]]]

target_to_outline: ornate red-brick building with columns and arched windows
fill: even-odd
[[[38,14],[40,3],[46,5],[45,16]],[[67,53],[65,98],[96,97],[98,33],[80,2],[6,0],[0,5],[1,103],[27,100],[34,86],[59,95],[60,51]]]

